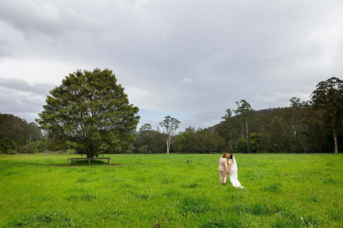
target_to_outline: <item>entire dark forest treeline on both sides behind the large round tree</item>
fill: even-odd
[[[189,126],[180,131],[180,121],[167,116],[159,123],[161,128],[157,126],[157,129],[152,129],[151,124],[146,123],[139,129],[135,140],[134,134],[131,133],[133,142],[121,146],[122,150],[108,148],[95,152],[98,154],[342,151],[342,80],[330,78],[319,82],[309,101],[301,101],[297,97],[292,97],[289,101],[289,107],[254,110],[242,99],[236,102],[236,109],[223,110],[220,123],[204,129]],[[83,121],[82,118],[80,121]],[[43,152],[46,149],[70,148],[70,140],[64,143],[49,136],[43,134],[34,122],[27,123],[26,120],[12,114],[0,113],[1,153],[32,153]],[[105,139],[114,140],[106,137]],[[120,138],[115,140],[120,141]],[[77,148],[76,151],[84,152],[78,151]]]

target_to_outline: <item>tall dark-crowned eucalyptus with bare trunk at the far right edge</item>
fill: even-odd
[[[332,77],[321,81],[311,94],[311,100],[316,109],[322,109],[329,117],[334,139],[334,151],[338,153],[337,132],[343,111],[343,81]],[[343,122],[343,120],[342,120]]]

